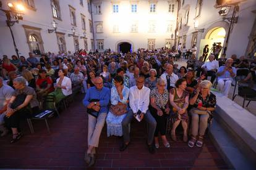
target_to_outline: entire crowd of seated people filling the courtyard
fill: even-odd
[[[188,67],[181,67],[174,63],[176,58],[173,56],[176,55],[181,54],[166,48],[155,51],[138,49],[127,54],[111,51],[91,51],[87,54],[83,50],[74,54],[59,52],[55,55],[48,52],[40,56],[40,59],[31,52],[27,59],[18,59],[13,55],[10,60],[4,55],[0,72],[4,85],[1,86],[0,83],[0,89],[11,86],[14,91],[18,91],[16,84],[22,84],[20,88],[28,88],[27,96],[30,97],[29,100],[24,99],[20,104],[22,107],[12,108],[15,97],[0,94],[5,103],[0,105],[0,113],[7,115],[2,118],[2,122],[16,112],[19,114],[19,110],[32,99],[33,107],[38,107],[35,100],[41,102],[48,96],[53,96],[58,103],[72,94],[72,89],[77,87],[85,93],[83,103],[89,110],[88,113],[93,115],[88,123],[89,143],[85,155],[89,164],[93,164],[95,159],[95,148],[98,147],[105,121],[108,136],[124,137],[121,151],[130,143],[129,124],[133,118],[138,121],[144,118],[148,122],[147,144],[150,153],[154,152],[154,148],[160,147],[159,133],[164,147],[170,147],[164,128],[169,116],[173,118],[171,138],[174,141],[177,140],[176,127],[181,124],[184,134],[182,140],[189,140],[188,132],[192,128],[193,136],[189,140],[189,147],[194,147],[194,144],[202,147],[203,134],[207,128],[206,119],[216,105],[216,97],[210,92],[213,82],[218,81],[218,88],[227,95],[237,68],[247,67],[247,62],[243,57],[241,60],[234,56],[225,59],[224,55],[220,60],[224,65],[215,60],[214,55],[210,55],[209,60],[203,62],[203,57],[197,60],[192,53],[186,56],[190,59]],[[255,70],[256,62],[251,65],[254,66],[252,70]],[[207,81],[207,76],[211,76],[211,81]],[[217,76],[218,79],[215,80]],[[251,79],[255,79],[255,71],[250,71],[244,81]],[[46,103],[44,106],[54,107],[53,103]],[[15,119],[21,117],[15,116]],[[22,136],[19,122],[15,122],[16,124],[11,124],[8,120],[6,122],[7,127],[12,129],[14,142]]]

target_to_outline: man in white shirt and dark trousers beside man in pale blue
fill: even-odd
[[[202,68],[203,68],[204,73],[206,75],[206,79],[207,79],[207,76],[211,76],[211,83],[213,83],[213,81],[215,80],[216,72],[219,68],[219,62],[214,60],[214,59],[215,59],[215,56],[213,54],[211,54],[209,56],[209,62],[205,62],[202,65]]]

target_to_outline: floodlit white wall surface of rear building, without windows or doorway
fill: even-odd
[[[98,1],[92,1],[92,4]],[[174,1],[174,3],[176,3]],[[93,22],[103,22],[103,33],[95,33],[96,39],[104,39],[105,49],[117,50],[117,42],[129,41],[134,44],[134,50],[139,47],[148,47],[148,39],[155,39],[155,47],[164,47],[165,39],[171,39],[171,33],[167,33],[167,22],[173,22],[173,34],[176,26],[177,3],[174,16],[168,12],[168,1],[158,1],[156,13],[150,14],[150,4],[147,0],[141,0],[137,6],[137,13],[132,14],[130,1],[119,1],[119,13],[114,14],[109,0],[101,3],[101,15],[95,14],[93,5]],[[130,25],[137,21],[138,33],[130,33]],[[148,21],[156,22],[156,33],[148,33]],[[119,32],[113,33],[114,23],[119,23]],[[96,25],[94,25],[96,26]],[[94,31],[96,28],[94,27]],[[96,41],[95,41],[96,44]]]

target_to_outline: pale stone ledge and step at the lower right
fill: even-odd
[[[256,116],[219,92],[210,137],[234,169],[256,169]]]

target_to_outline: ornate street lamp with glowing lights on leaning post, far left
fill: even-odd
[[[15,23],[19,23],[19,20],[23,20],[22,15],[25,8],[23,7],[22,4],[12,4],[11,2],[9,2],[7,6],[9,7],[9,10],[2,9],[2,2],[0,1],[0,10],[2,10],[2,12],[6,14],[6,24],[9,27],[9,30],[11,31],[15,52],[17,54],[17,57],[20,59],[19,50],[17,49],[14,39],[14,33],[12,32],[11,26],[14,26]]]

